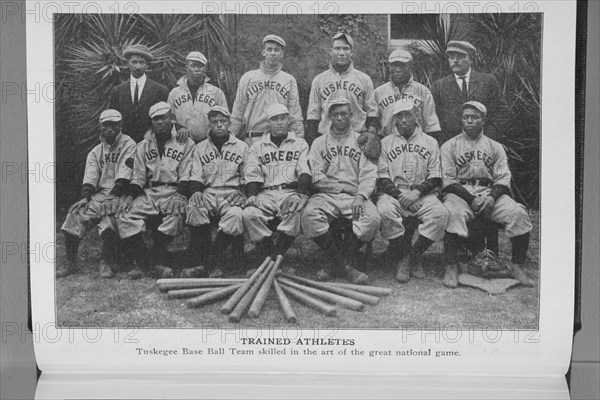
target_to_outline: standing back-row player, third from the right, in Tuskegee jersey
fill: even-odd
[[[373,81],[364,72],[354,69],[353,49],[354,41],[350,35],[338,32],[333,36],[329,69],[313,79],[310,90],[306,112],[306,140],[309,144],[320,132],[329,132],[329,105],[334,98],[348,100],[352,111],[353,131],[362,132],[364,128],[373,133],[377,131],[377,103]]]

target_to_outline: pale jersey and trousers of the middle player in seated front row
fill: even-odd
[[[280,209],[283,201],[296,193],[299,176],[310,175],[307,160],[308,144],[293,131],[288,132],[279,147],[271,141],[269,132],[252,145],[246,165],[246,183],[257,182],[263,187],[257,195],[258,207],[246,207],[243,211],[244,227],[252,241],[271,236],[268,223],[275,217],[281,217],[279,232],[291,237],[300,234],[300,213],[281,216]]]

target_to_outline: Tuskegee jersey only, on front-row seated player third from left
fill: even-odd
[[[248,145],[231,132],[221,151],[210,136],[196,145],[191,180],[210,187],[241,187]]]

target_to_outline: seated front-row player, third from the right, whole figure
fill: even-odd
[[[361,152],[359,133],[351,127],[352,104],[345,98],[327,105],[331,129],[313,142],[309,152],[313,195],[302,212],[302,232],[325,250],[336,264],[334,269],[317,273],[321,280],[341,273],[355,284],[364,284],[368,276],[351,266],[352,257],[363,244],[371,241],[379,229],[380,217],[369,200],[377,180],[377,166]],[[352,219],[353,235],[344,249],[338,248],[329,223],[335,218]]]

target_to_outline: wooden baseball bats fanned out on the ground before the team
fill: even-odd
[[[365,305],[376,305],[379,297],[392,290],[377,286],[352,285],[335,282],[317,282],[279,271],[282,256],[276,260],[267,257],[248,279],[182,278],[156,281],[168,299],[187,299],[186,305],[197,308],[227,299],[221,313],[230,322],[239,322],[245,315],[260,316],[271,288],[287,322],[297,322],[289,298],[327,315],[336,316],[337,307],[362,311]],[[288,298],[289,297],[289,298]]]

